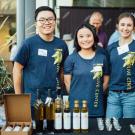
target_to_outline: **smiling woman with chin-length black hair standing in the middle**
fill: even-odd
[[[69,93],[70,107],[74,100],[87,100],[90,117],[104,116],[103,91],[109,80],[106,56],[97,52],[98,37],[95,27],[82,24],[75,33],[76,51],[69,55],[64,64],[64,81]]]

